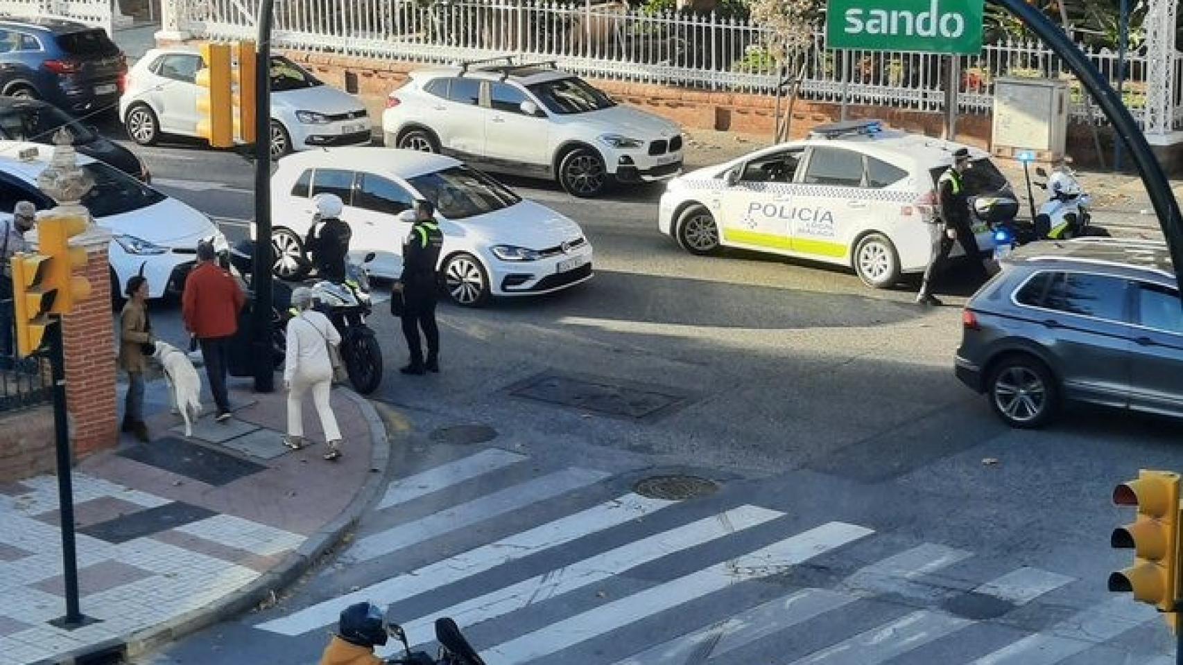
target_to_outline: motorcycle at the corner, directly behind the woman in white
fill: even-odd
[[[231,265],[244,279],[251,274],[253,257],[253,240],[244,240],[230,252]],[[364,257],[366,263],[373,260],[373,253]],[[328,317],[341,333],[341,360],[349,374],[349,383],[362,395],[374,392],[382,383],[382,347],[374,331],[366,324],[374,309],[366,267],[347,261],[343,282],[315,280],[308,287],[316,302],[313,307]],[[291,293],[292,288],[285,282],[272,282],[272,353],[277,358],[277,367],[283,365],[287,347],[287,321],[295,315]]]

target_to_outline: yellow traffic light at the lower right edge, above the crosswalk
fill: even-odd
[[[1142,469],[1138,480],[1113,488],[1113,503],[1136,506],[1137,519],[1113,529],[1110,545],[1133,549],[1133,566],[1110,574],[1108,589],[1175,612],[1178,596],[1179,475]]]

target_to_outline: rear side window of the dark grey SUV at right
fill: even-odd
[[[1045,279],[1039,286],[1034,282]],[[1043,273],[1027,283],[1016,300],[1068,314],[1125,322],[1126,286],[1120,278],[1086,273]]]

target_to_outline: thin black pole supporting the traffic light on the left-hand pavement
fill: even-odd
[[[66,418],[66,359],[62,340],[62,318],[57,317],[46,331],[50,335],[50,365],[53,373],[53,436],[58,452],[58,522],[62,529],[62,571],[66,586],[66,615],[63,627],[83,622],[78,608],[78,559],[75,552],[73,478],[70,451],[70,430]]]

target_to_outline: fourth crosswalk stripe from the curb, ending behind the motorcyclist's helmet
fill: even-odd
[[[741,506],[400,624],[408,635],[416,637],[432,634],[435,617],[451,617],[461,626],[474,626],[783,515],[777,510]],[[390,656],[397,648],[390,645],[388,651],[389,653],[380,656]]]

